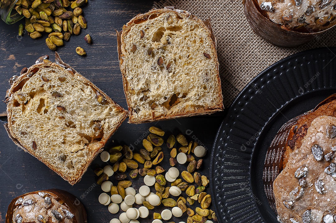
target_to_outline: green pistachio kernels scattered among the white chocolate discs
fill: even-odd
[[[166,145],[164,145],[164,139],[162,137],[164,136],[165,132],[163,130],[156,127],[151,127],[149,131],[150,134],[148,135],[148,137],[146,139],[143,139],[142,141],[143,148],[139,149],[138,152],[132,151],[127,145],[116,145],[113,146],[109,150],[109,152],[103,151],[101,154],[101,159],[103,161],[110,161],[112,163],[111,166],[105,166],[104,169],[112,168],[113,172],[112,174],[109,174],[102,168],[95,169],[95,174],[98,176],[97,183],[101,185],[105,182],[105,185],[108,184],[111,187],[111,195],[119,194],[122,199],[125,199],[125,196],[127,194],[125,194],[125,189],[131,187],[131,180],[133,178],[141,175],[144,176],[144,183],[147,186],[154,185],[154,189],[152,190],[155,190],[156,195],[160,198],[160,203],[157,206],[162,204],[165,207],[178,207],[180,210],[182,210],[182,213],[186,213],[186,223],[204,223],[206,221],[206,223],[210,223],[211,220],[217,221],[214,211],[209,209],[211,205],[211,196],[205,192],[207,186],[209,185],[209,180],[206,176],[195,172],[196,169],[200,169],[202,167],[203,160],[196,160],[198,156],[196,156],[196,158],[194,157],[194,155],[197,154],[196,150],[200,149],[199,147],[202,146],[199,146],[197,142],[188,142],[185,136],[182,134],[178,134],[176,137],[174,135],[170,135],[166,141]],[[178,144],[180,144],[180,146],[178,146]],[[183,169],[180,168],[180,171],[173,167],[173,169],[175,168],[175,172],[177,172],[176,175],[174,175],[174,178],[169,176],[170,170],[167,170],[165,175],[164,172],[166,170],[159,165],[162,161],[164,161],[165,158],[162,151],[163,146],[167,147],[167,149],[170,149],[169,163],[171,166],[175,166],[177,162],[185,165],[185,169],[182,167]],[[198,149],[195,150],[196,147],[198,147]],[[179,154],[183,154],[183,156],[185,156],[185,159],[179,159]],[[203,153],[199,154],[202,154],[202,156],[204,156],[205,149]],[[108,159],[108,157],[110,159]],[[177,160],[175,157],[177,158]],[[130,169],[129,174],[125,173],[127,171],[127,168]],[[109,175],[110,178],[114,176],[116,180],[118,180],[117,185],[113,185],[113,183],[109,181]],[[131,179],[127,179],[128,175]],[[175,176],[177,177],[175,178]],[[170,187],[167,186],[169,182],[171,184]],[[134,190],[133,188],[130,189]],[[103,191],[107,192],[106,187],[104,187]],[[141,192],[139,191],[139,193]],[[182,196],[183,194],[184,196]],[[135,199],[137,199],[137,196],[138,195],[135,196]],[[175,200],[175,196],[180,197]],[[111,201],[113,201],[112,197]],[[200,207],[192,207],[197,204],[195,201],[198,201]],[[137,201],[135,201],[135,203],[139,204]],[[110,206],[116,206],[115,203],[110,204],[110,202],[104,203],[104,205],[109,205],[109,210]],[[140,205],[143,205],[150,210],[157,207],[152,205],[151,202],[148,201],[147,197],[146,200],[143,200]],[[122,204],[122,206],[124,206],[124,204]],[[121,209],[123,211],[126,211],[122,206]],[[128,208],[130,207],[131,206],[129,206]],[[119,208],[115,210],[116,211],[114,212],[110,212],[117,213]],[[164,219],[162,218],[161,214],[156,212],[153,214],[153,219],[156,223],[159,223],[157,219]],[[177,217],[176,215],[174,216]],[[183,214],[178,216],[181,216],[183,218]],[[129,222],[126,221],[127,218],[125,220],[124,217],[125,216],[123,216],[122,218],[124,222],[122,221],[121,223]],[[119,219],[121,218],[119,217]],[[135,220],[131,221],[135,223]],[[119,223],[120,221],[114,218],[111,220],[111,222]]]

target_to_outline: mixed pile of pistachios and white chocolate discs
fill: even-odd
[[[176,137],[170,135],[165,143],[163,130],[151,127],[149,131],[150,134],[143,139],[143,148],[139,151],[132,150],[127,145],[116,145],[109,152],[103,151],[100,154],[102,161],[112,164],[95,170],[97,183],[104,191],[98,200],[108,206],[113,214],[119,212],[119,204],[123,211],[119,219],[113,218],[110,223],[139,223],[136,219],[148,217],[149,210],[155,211],[152,223],[169,221],[173,216],[183,218],[184,223],[217,221],[214,211],[209,209],[211,196],[206,193],[209,180],[196,171],[203,164],[203,159],[197,158],[203,157],[206,149],[197,142],[188,142],[182,134]],[[170,150],[169,159],[165,157],[162,147]],[[160,164],[168,160],[172,167],[165,170]],[[175,166],[177,163],[178,167]],[[117,185],[109,181],[112,175],[117,180]],[[131,186],[132,179],[140,177],[139,175],[143,176],[144,184],[139,185],[137,193]],[[193,207],[197,204],[200,207]],[[158,212],[159,206],[165,208]]]

